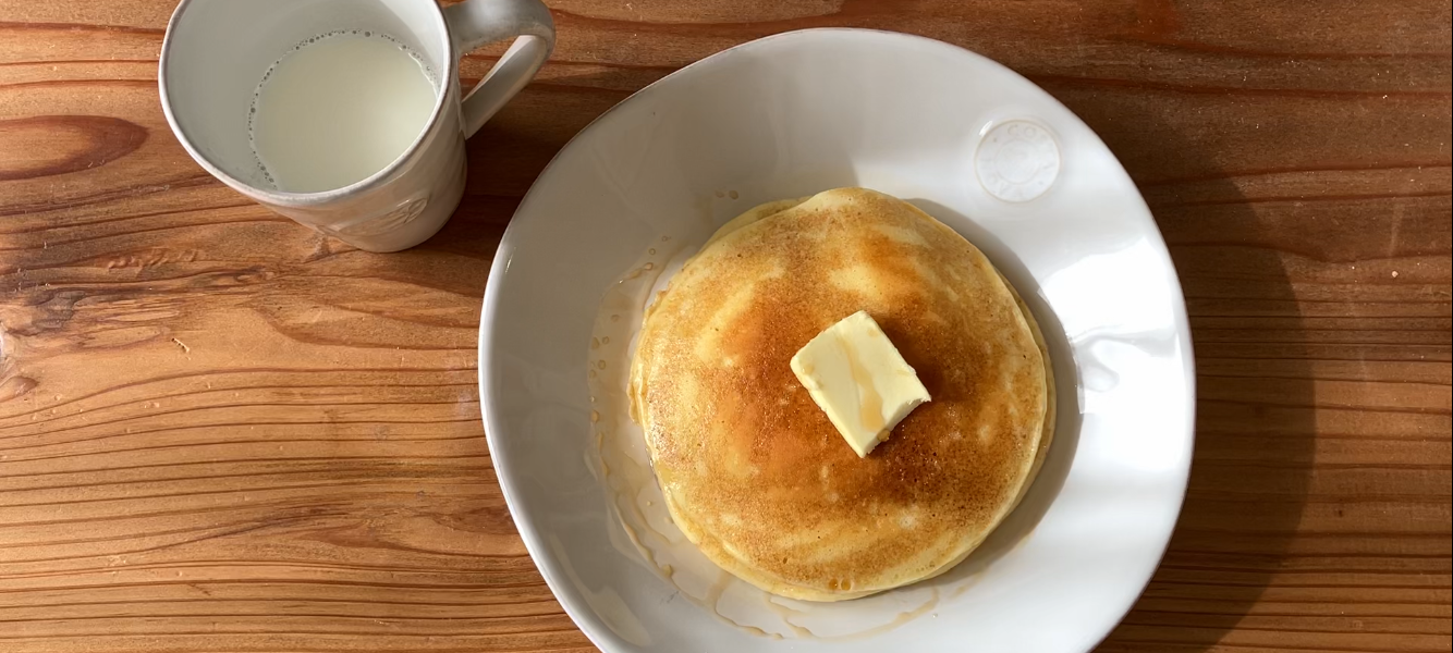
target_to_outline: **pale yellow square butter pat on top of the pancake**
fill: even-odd
[[[930,401],[918,373],[865,311],[802,345],[792,371],[860,459]]]

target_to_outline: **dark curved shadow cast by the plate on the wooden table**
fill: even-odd
[[[1216,160],[1210,147],[1167,125],[1154,103],[1106,106],[1094,94],[1055,94],[1133,178],[1196,171],[1190,181],[1138,181],[1190,313],[1197,369],[1190,483],[1155,576],[1097,650],[1210,650],[1252,614],[1284,567],[1306,504],[1315,389],[1296,293],[1254,205],[1229,173],[1205,170]]]

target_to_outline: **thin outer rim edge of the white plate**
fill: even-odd
[[[1177,527],[1180,525],[1180,519],[1183,517],[1181,511],[1184,509],[1186,505],[1186,493],[1190,483],[1190,472],[1196,451],[1196,409],[1197,409],[1196,361],[1194,361],[1194,348],[1190,332],[1190,318],[1186,308],[1184,289],[1181,287],[1180,273],[1175,268],[1175,263],[1170,257],[1170,248],[1165,244],[1165,237],[1164,234],[1161,234],[1159,225],[1155,222],[1155,216],[1151,212],[1149,205],[1145,203],[1145,196],[1135,184],[1135,180],[1129,177],[1129,173],[1125,170],[1125,165],[1120,163],[1120,158],[1114,155],[1110,147],[1104,144],[1104,141],[1094,129],[1085,125],[1084,120],[1075,112],[1064,106],[1064,103],[1061,103],[1059,99],[1053,97],[1052,94],[1049,94],[1049,91],[1043,90],[1033,80],[1029,80],[1027,77],[1019,74],[1013,68],[989,57],[974,52],[968,48],[928,36],[921,36],[907,32],[892,32],[885,29],[870,29],[870,28],[808,28],[808,29],[779,32],[753,41],[747,41],[734,45],[731,48],[713,52],[697,61],[693,61],[676,71],[671,71],[670,74],[661,77],[660,80],[655,80],[651,84],[647,84],[645,87],[631,93],[629,96],[626,96],[625,99],[622,99],[620,102],[618,102],[616,104],[610,106],[599,116],[591,119],[586,126],[583,126],[574,135],[571,135],[571,138],[565,141],[565,144],[559,148],[559,151],[556,151],[555,155],[551,157],[549,163],[541,170],[541,173],[530,183],[529,190],[526,190],[525,196],[522,196],[519,206],[514,209],[514,213],[511,213],[510,222],[506,226],[503,237],[500,238],[500,245],[495,250],[494,258],[490,264],[490,274],[485,282],[484,299],[479,309],[479,334],[477,341],[478,347],[477,377],[478,377],[478,392],[479,392],[479,412],[484,422],[485,444],[490,451],[490,466],[494,470],[495,479],[500,485],[500,493],[504,496],[506,508],[510,511],[510,518],[513,519],[516,531],[519,533],[520,540],[525,544],[526,553],[529,553],[530,556],[530,562],[535,564],[536,570],[545,579],[545,585],[555,595],[555,599],[559,604],[561,609],[564,609],[565,614],[571,618],[571,621],[581,630],[581,633],[586,634],[590,643],[602,649],[602,652],[604,653],[619,653],[619,652],[634,650],[632,649],[634,644],[625,641],[620,636],[618,636],[610,627],[604,624],[604,621],[602,621],[602,618],[593,609],[587,609],[584,607],[586,598],[571,582],[568,582],[565,573],[559,569],[558,560],[552,557],[548,544],[543,541],[541,533],[536,530],[533,518],[529,514],[519,511],[516,508],[517,505],[520,505],[519,504],[520,498],[517,496],[517,490],[514,489],[514,485],[519,483],[519,480],[514,479],[514,472],[507,463],[509,456],[507,454],[500,456],[500,448],[495,445],[497,440],[494,435],[491,435],[495,432],[509,432],[507,428],[503,428],[501,424],[503,419],[497,415],[497,411],[493,409],[494,402],[491,401],[498,393],[497,383],[494,380],[495,357],[491,348],[497,337],[494,332],[495,329],[491,315],[498,313],[500,282],[509,271],[510,261],[514,255],[516,250],[514,241],[519,239],[519,231],[520,231],[519,225],[522,219],[525,221],[529,219],[529,218],[522,218],[522,213],[530,205],[532,197],[536,193],[539,193],[539,181],[545,178],[546,174],[551,173],[551,170],[559,163],[561,157],[575,144],[575,141],[590,134],[590,131],[594,129],[597,123],[604,120],[612,113],[622,110],[622,107],[638,100],[641,96],[652,91],[657,86],[664,84],[676,77],[692,74],[702,68],[721,65],[725,59],[731,57],[740,55],[741,52],[748,49],[760,48],[763,46],[763,44],[772,41],[801,39],[822,33],[838,33],[838,35],[849,33],[849,35],[862,35],[872,38],[886,38],[889,41],[902,39],[914,42],[921,46],[940,48],[946,52],[950,52],[955,57],[968,57],[971,59],[976,59],[978,64],[988,64],[1001,68],[1003,71],[1017,77],[1023,83],[1030,84],[1036,90],[1045,93],[1048,102],[1058,104],[1074,120],[1080,122],[1081,126],[1085,128],[1085,131],[1100,144],[1100,147],[1103,147],[1110,154],[1119,171],[1125,174],[1125,178],[1130,183],[1130,187],[1133,190],[1135,202],[1144,210],[1144,213],[1136,216],[1135,219],[1142,221],[1142,228],[1146,228],[1146,232],[1149,235],[1154,235],[1155,244],[1158,245],[1157,255],[1161,258],[1161,263],[1165,266],[1165,268],[1171,271],[1168,284],[1168,290],[1173,300],[1171,318],[1174,322],[1175,335],[1184,344],[1184,347],[1181,347],[1181,356],[1180,356],[1180,371],[1186,380],[1186,390],[1183,396],[1183,401],[1186,403],[1186,412],[1180,435],[1186,440],[1187,445],[1186,461],[1178,470],[1175,483],[1175,498],[1174,498],[1175,518],[1170,522],[1170,527],[1165,530],[1162,535],[1155,564],[1149,567],[1149,570],[1144,575],[1144,578],[1138,579],[1136,585],[1139,585],[1139,591],[1130,596],[1128,604],[1117,607],[1116,612],[1119,614],[1119,617],[1116,617],[1113,621],[1101,624],[1097,628],[1100,630],[1100,633],[1085,641],[1085,646],[1081,649],[1081,653],[1088,653],[1101,641],[1104,641],[1106,637],[1109,637],[1109,634],[1114,630],[1114,627],[1125,620],[1125,617],[1130,612],[1130,609],[1135,607],[1139,598],[1145,594],[1145,589],[1149,586],[1149,582],[1152,580],[1155,572],[1161,567],[1161,563],[1164,562],[1165,554],[1170,550],[1171,537],[1174,535]],[[506,463],[501,464],[500,461]],[[568,601],[565,601],[564,598],[568,598]]]

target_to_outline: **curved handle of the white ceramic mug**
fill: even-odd
[[[519,36],[461,100],[464,135],[469,138],[545,65],[555,49],[555,22],[539,0],[465,0],[445,7],[445,22],[459,58],[482,45]]]

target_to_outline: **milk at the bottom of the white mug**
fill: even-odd
[[[253,152],[278,190],[341,189],[404,154],[436,99],[433,71],[392,36],[328,32],[288,51],[257,84]]]

